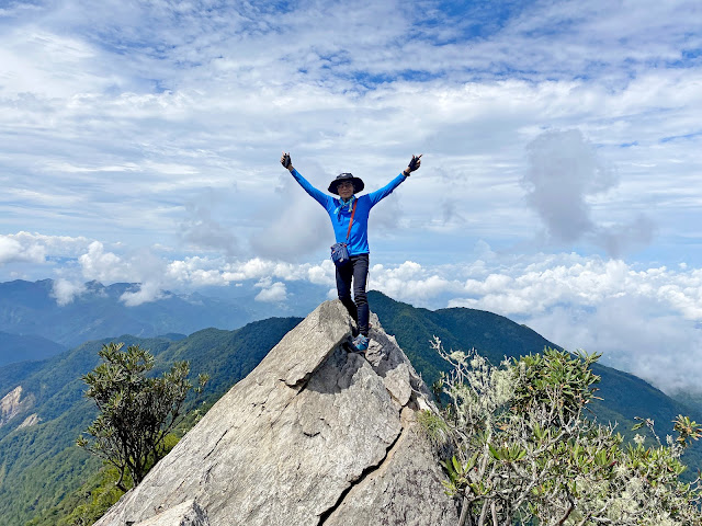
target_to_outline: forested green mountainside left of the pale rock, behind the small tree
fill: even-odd
[[[214,403],[299,321],[271,318],[235,331],[206,329],[179,341],[129,335],[117,340],[149,348],[156,358],[154,374],[169,370],[178,361],[188,361],[194,376],[210,373],[203,396]],[[34,399],[25,412],[0,427],[0,526],[24,525],[54,513],[54,506],[101,468],[101,461],[76,446],[75,438],[97,416],[94,404],[84,398],[80,377],[99,364],[98,352],[110,341],[89,342],[29,367],[0,367],[0,397],[21,385],[23,396]],[[193,397],[185,400],[182,412],[188,415],[181,427],[194,423],[207,408],[196,403]],[[192,412],[195,408],[199,413]],[[33,413],[41,422],[18,428]],[[48,518],[44,524],[57,523]]]

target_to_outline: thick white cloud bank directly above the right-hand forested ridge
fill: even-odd
[[[448,305],[510,317],[570,351],[603,353],[607,365],[666,392],[700,392],[701,290],[702,272],[689,265],[636,268],[564,254],[468,278],[468,297]]]

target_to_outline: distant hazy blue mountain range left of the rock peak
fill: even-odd
[[[0,331],[42,336],[58,344],[35,341],[37,350],[27,356],[22,352],[26,343],[0,340],[0,344],[8,345],[0,355],[0,364],[37,359],[89,340],[120,334],[150,338],[168,333],[190,334],[208,327],[231,330],[272,316],[304,315],[325,295],[321,290],[314,294],[315,290],[306,287],[305,294],[299,294],[298,300],[293,302],[295,308],[291,309],[275,301],[257,300],[260,289],[249,283],[241,287],[210,288],[206,294],[165,291],[154,301],[131,305],[129,298],[139,291],[139,284],[104,286],[89,282],[80,294],[66,301],[53,279],[0,283]],[[295,290],[291,289],[288,294],[295,295]]]

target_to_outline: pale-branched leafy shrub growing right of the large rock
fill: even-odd
[[[622,447],[611,425],[585,419],[599,377],[598,355],[544,350],[494,367],[475,351],[433,348],[453,365],[442,388],[453,455],[443,462],[458,525],[701,525],[700,480],[682,483],[680,457],[702,430],[675,421],[677,439]],[[440,426],[433,424],[432,428]],[[437,436],[437,433],[433,433]]]

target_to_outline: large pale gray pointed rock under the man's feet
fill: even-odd
[[[353,321],[321,304],[95,524],[194,500],[213,526],[455,525],[416,421],[427,387],[373,322],[366,357],[348,353]]]

